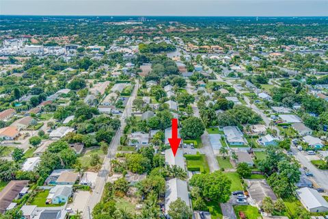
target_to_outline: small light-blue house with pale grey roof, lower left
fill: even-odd
[[[49,195],[46,197],[46,203],[66,203],[72,195],[72,191],[72,185],[56,185],[49,191]]]

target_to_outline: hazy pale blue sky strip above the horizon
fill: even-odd
[[[0,0],[0,14],[328,16],[328,0]]]

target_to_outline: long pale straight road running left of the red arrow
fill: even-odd
[[[135,88],[133,88],[133,92],[130,98],[128,99],[124,112],[120,118],[121,127],[116,132],[115,136],[113,137],[113,140],[111,140],[111,144],[109,144],[107,156],[105,157],[104,162],[102,163],[102,168],[98,172],[98,177],[96,179],[94,190],[92,191],[92,195],[87,201],[86,209],[83,211],[83,218],[85,219],[92,218],[91,216],[92,209],[94,209],[94,206],[100,202],[100,198],[102,196],[102,192],[104,190],[105,183],[107,181],[107,177],[110,172],[111,159],[115,157],[116,151],[118,151],[118,146],[120,145],[120,137],[122,136],[124,127],[126,125],[125,118],[131,116],[133,100],[137,96],[138,88],[139,88],[139,81],[137,81],[137,83],[135,84]]]

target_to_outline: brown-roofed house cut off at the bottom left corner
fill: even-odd
[[[28,180],[12,180],[0,192],[0,213],[3,214],[5,209],[18,196],[19,192],[29,183]]]

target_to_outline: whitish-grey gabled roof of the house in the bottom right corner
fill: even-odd
[[[327,207],[328,209],[327,201],[325,201],[325,198],[323,198],[323,196],[321,196],[318,191],[305,187],[296,190],[296,192],[308,209],[313,209],[316,207]]]

